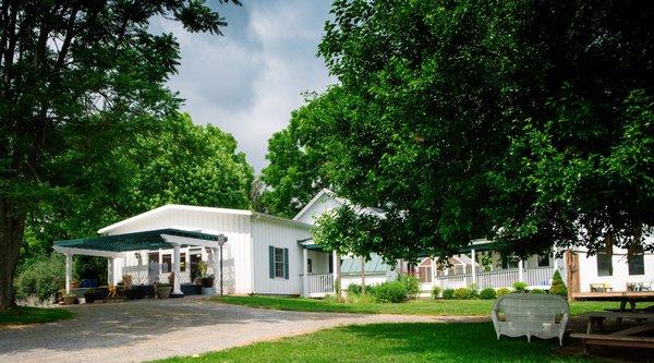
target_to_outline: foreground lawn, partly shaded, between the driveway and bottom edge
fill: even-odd
[[[557,353],[558,340],[497,340],[493,325],[373,324],[258,342],[161,362],[591,362]]]

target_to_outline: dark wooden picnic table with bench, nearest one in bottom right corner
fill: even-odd
[[[654,330],[654,314],[642,312],[593,312],[580,314],[580,316],[589,318],[586,332],[571,334],[570,337],[582,339],[585,349],[588,349],[588,346],[654,348],[654,337],[635,336],[637,334]],[[633,319],[643,324],[606,334],[604,322],[611,318],[617,322]],[[597,328],[600,331],[594,331],[594,328]]]

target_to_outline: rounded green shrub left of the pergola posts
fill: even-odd
[[[14,281],[16,299],[35,295],[40,301],[46,301],[62,289],[64,283],[65,259],[63,255],[56,253],[23,268]]]

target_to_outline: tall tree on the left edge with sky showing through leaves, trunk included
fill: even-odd
[[[148,32],[155,16],[189,32],[227,25],[202,0],[0,1],[0,308],[29,213],[98,185],[76,178],[87,170],[121,178],[116,145],[177,109],[165,82],[179,46]]]

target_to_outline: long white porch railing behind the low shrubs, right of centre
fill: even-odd
[[[549,287],[552,275],[554,275],[554,267],[525,268],[522,270],[522,281],[532,288],[544,289]],[[435,276],[429,286],[438,286],[441,289],[458,289],[476,283],[479,289],[499,289],[510,288],[516,281],[520,281],[520,271],[512,268],[477,273],[474,279],[472,274]]]

